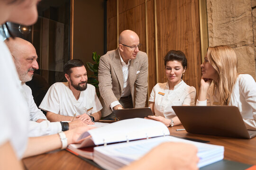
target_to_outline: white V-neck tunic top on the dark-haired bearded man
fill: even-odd
[[[100,111],[102,106],[93,85],[87,84],[87,89],[81,91],[79,99],[76,100],[66,82],[53,84],[39,108],[64,116],[73,116],[75,113],[76,115],[83,113],[91,115]]]

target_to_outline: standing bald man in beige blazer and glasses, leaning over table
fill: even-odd
[[[119,48],[101,56],[99,90],[102,119],[113,120],[113,110],[145,107],[148,61],[139,51],[138,35],[125,30],[119,35]]]

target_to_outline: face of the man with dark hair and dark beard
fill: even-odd
[[[87,71],[84,66],[71,68],[70,75],[65,74],[70,85],[78,91],[84,91],[87,88]]]

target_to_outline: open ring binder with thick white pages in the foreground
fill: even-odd
[[[168,128],[161,122],[141,118],[125,119],[85,132],[78,139],[83,140],[82,143],[70,144],[68,150],[108,170],[128,165],[163,142],[195,144],[200,157],[199,167],[223,159],[223,146],[192,142],[169,135]],[[86,151],[91,146],[94,146],[93,151]]]

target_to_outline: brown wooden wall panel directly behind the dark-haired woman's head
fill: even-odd
[[[181,50],[187,57],[188,70],[183,80],[199,91],[201,46],[199,5],[197,0],[157,0],[158,67],[163,68],[165,54]],[[166,82],[165,70],[159,71],[159,82]]]

